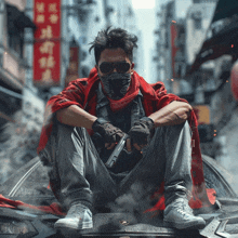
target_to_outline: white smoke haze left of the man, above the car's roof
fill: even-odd
[[[37,115],[35,115],[37,117]],[[17,169],[37,156],[41,121],[23,110],[16,111],[13,121],[8,121],[0,141],[0,183],[3,183]]]

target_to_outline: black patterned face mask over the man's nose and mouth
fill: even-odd
[[[113,72],[108,76],[100,77],[104,91],[111,100],[122,98],[131,83],[131,74]]]

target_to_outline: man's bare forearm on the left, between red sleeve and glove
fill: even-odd
[[[92,129],[93,122],[97,119],[95,116],[87,113],[76,105],[71,105],[56,111],[56,118],[64,124],[87,129]]]

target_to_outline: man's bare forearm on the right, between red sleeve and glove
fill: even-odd
[[[174,101],[151,114],[149,118],[153,119],[155,128],[180,124],[188,119],[191,109],[189,104]]]

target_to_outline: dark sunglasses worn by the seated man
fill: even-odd
[[[129,64],[128,62],[103,62],[100,65],[100,70],[103,74],[109,74],[111,71],[114,71],[114,69],[117,69],[117,72],[127,72],[131,67],[131,64]]]

